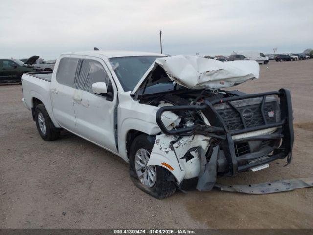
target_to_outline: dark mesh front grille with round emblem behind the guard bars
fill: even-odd
[[[230,132],[280,122],[279,98],[268,95],[217,103],[214,108]]]

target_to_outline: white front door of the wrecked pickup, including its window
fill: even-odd
[[[94,94],[95,82],[110,84],[109,72],[100,59],[83,59],[75,80],[73,95],[77,133],[102,147],[117,152],[115,143],[114,109],[116,97],[110,101]],[[115,88],[114,88],[115,89]],[[116,91],[114,92],[116,96]]]

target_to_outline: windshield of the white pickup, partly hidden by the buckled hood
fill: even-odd
[[[132,91],[152,63],[164,56],[129,56],[110,58],[111,66],[124,91]]]

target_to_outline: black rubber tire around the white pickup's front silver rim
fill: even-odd
[[[161,166],[156,166],[156,181],[155,184],[149,188],[139,180],[136,170],[135,170],[135,154],[139,149],[145,149],[149,153],[151,153],[154,140],[148,140],[151,136],[141,134],[137,136],[134,141],[132,142],[130,148],[130,155],[129,155],[129,169],[130,169],[130,176],[134,184],[142,191],[148,193],[149,195],[157,198],[163,199],[169,197],[174,194],[177,186],[175,184],[174,176],[165,168]],[[155,139],[155,138],[154,138]]]

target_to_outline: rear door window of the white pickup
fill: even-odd
[[[57,82],[73,87],[77,64],[78,58],[62,58],[56,75]]]

